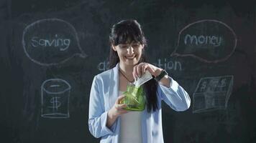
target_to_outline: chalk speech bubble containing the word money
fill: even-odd
[[[185,26],[171,56],[192,56],[206,63],[225,61],[237,46],[237,35],[224,22],[204,19]]]

